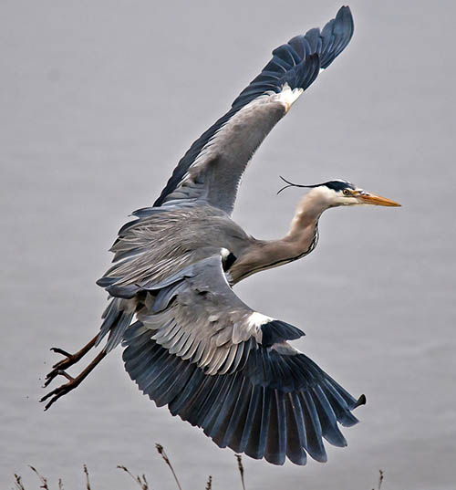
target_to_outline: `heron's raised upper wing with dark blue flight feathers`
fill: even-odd
[[[323,30],[311,29],[273,51],[273,58],[220,120],[192,144],[154,206],[204,201],[233,211],[247,162],[295,99],[347,46],[353,35],[343,6]]]

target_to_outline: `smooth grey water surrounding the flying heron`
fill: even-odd
[[[234,218],[284,235],[301,195],[278,175],[343,178],[403,204],[337,209],[302,261],[236,287],[251,307],[306,331],[296,342],[347,390],[366,393],[348,447],[328,463],[244,458],[247,486],[456,488],[454,17],[450,1],[354,0],[355,36],[256,153]],[[0,482],[34,464],[54,488],[135,484],[240,488],[233,454],[157,409],[112,352],[43,412],[57,356],[78,349],[106,305],[95,280],[132,210],[161,192],[181,155],[291,36],[323,26],[320,0],[0,4],[2,349]]]

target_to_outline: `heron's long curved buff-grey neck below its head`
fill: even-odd
[[[279,240],[253,240],[245,254],[238,257],[231,267],[232,282],[310,254],[318,240],[318,219],[326,209],[327,204],[321,195],[307,193],[297,204],[287,235]]]

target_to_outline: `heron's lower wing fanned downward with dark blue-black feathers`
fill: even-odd
[[[125,368],[140,390],[202,427],[220,447],[256,459],[326,461],[322,438],[344,446],[357,402],[292,348],[304,333],[248,308],[220,255],[143,288],[149,300],[125,332]],[[154,299],[152,299],[152,297]]]

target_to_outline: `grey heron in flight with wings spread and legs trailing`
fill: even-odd
[[[67,383],[41,401],[48,409],[122,343],[125,369],[157,406],[201,427],[220,447],[272,464],[326,461],[323,439],[347,445],[338,424],[358,422],[365,402],[350,395],[288,340],[303,331],[249,308],[233,292],[245,277],[303,257],[316,247],[318,220],[337,206],[398,203],[334,180],[307,187],[288,234],[260,240],[231,218],[239,182],[264,137],[347,47],[347,6],[320,31],[273,51],[231,109],[185,153],[153,206],[123,225],[113,266],[98,280],[109,293],[98,334],[47,374]],[[67,368],[103,340],[76,377]]]

